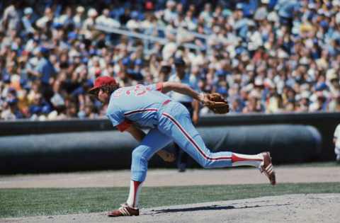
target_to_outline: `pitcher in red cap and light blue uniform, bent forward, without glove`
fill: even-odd
[[[132,151],[131,181],[128,200],[118,210],[108,213],[110,217],[139,215],[138,197],[142,182],[147,176],[147,162],[160,149],[174,141],[204,168],[226,166],[254,166],[265,173],[272,185],[276,184],[271,156],[268,152],[256,155],[236,154],[229,151],[211,152],[191,122],[188,110],[171,101],[164,93],[176,91],[195,98],[212,110],[215,103],[206,94],[199,94],[192,88],[174,82],[149,86],[137,85],[119,88],[115,79],[100,76],[89,93],[108,103],[107,116],[113,126],[121,132],[128,131],[140,144]],[[222,110],[227,103],[222,104]],[[218,109],[215,111],[219,113]],[[138,127],[151,127],[145,135]]]

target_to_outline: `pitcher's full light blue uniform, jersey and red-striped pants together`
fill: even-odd
[[[204,168],[232,166],[231,152],[214,153],[205,147],[188,110],[162,93],[162,83],[118,88],[106,115],[122,132],[131,122],[152,128],[132,152],[132,181],[145,181],[149,159],[172,141]]]

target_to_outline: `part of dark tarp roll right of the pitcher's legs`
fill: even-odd
[[[318,130],[306,125],[204,127],[200,132],[212,151],[242,154],[270,151],[276,164],[315,161],[322,151]]]

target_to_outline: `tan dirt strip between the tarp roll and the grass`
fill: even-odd
[[[278,183],[340,182],[340,166],[278,167]],[[143,187],[178,185],[226,185],[268,183],[255,168],[189,169],[179,173],[175,169],[149,169]],[[129,187],[130,171],[98,171],[54,173],[40,175],[1,176],[0,188],[91,188]]]

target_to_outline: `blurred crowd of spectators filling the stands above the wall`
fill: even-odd
[[[86,94],[96,76],[166,81],[177,57],[231,113],[340,111],[340,0],[27,0],[2,1],[0,13],[1,120],[101,117]]]

